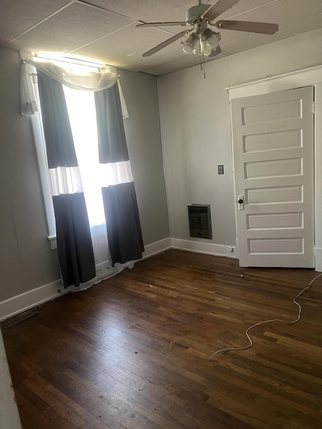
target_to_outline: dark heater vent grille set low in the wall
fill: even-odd
[[[212,238],[210,204],[188,204],[190,237]]]

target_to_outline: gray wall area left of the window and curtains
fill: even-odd
[[[59,279],[29,118],[20,114],[18,51],[0,48],[0,301]]]

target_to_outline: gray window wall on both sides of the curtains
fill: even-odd
[[[169,237],[156,77],[120,70],[144,244]],[[60,278],[47,228],[29,118],[20,114],[18,51],[0,48],[0,301]]]

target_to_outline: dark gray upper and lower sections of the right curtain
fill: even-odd
[[[129,161],[117,83],[95,93],[100,163]],[[102,188],[112,265],[142,258],[144,251],[134,183]]]

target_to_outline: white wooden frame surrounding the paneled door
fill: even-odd
[[[269,94],[274,92],[293,90],[296,88],[314,87],[314,259],[315,271],[322,272],[322,65],[281,74],[254,82],[243,83],[226,88],[229,94],[229,103],[232,99]],[[231,103],[230,103],[231,105]],[[231,125],[231,109],[230,109]],[[232,136],[232,132],[231,132]],[[233,140],[232,157],[233,157]],[[233,159],[234,162],[234,159]],[[234,165],[234,163],[233,163]],[[235,210],[235,234],[236,254],[238,258],[238,231],[236,222],[236,187],[235,172],[233,167],[234,210]]]

